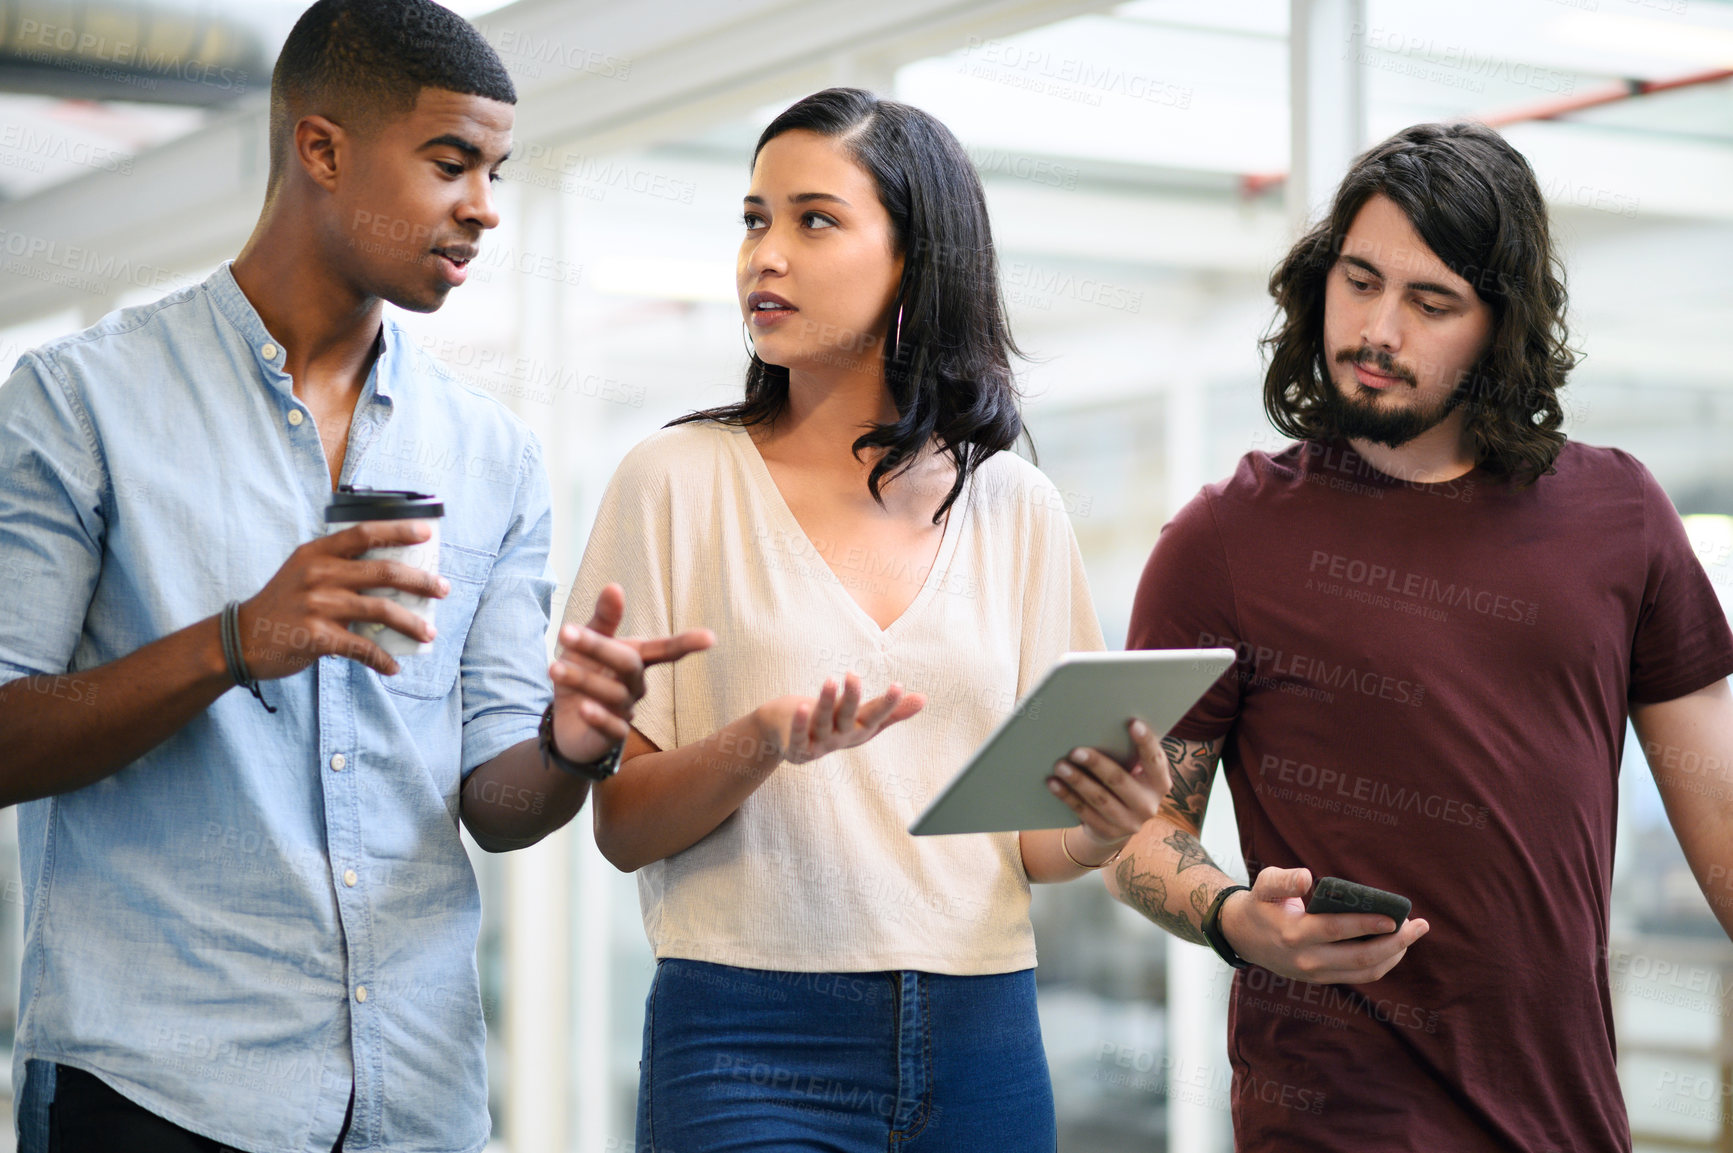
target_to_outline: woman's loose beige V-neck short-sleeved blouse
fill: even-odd
[[[884,579],[782,499],[752,439],[702,423],[634,447],[603,496],[565,619],[626,590],[622,636],[709,628],[650,671],[636,726],[660,749],[854,671],[927,706],[856,749],[782,765],[714,832],[638,870],[657,957],[783,971],[1010,973],[1035,964],[1017,834],[912,837],[910,822],[1064,652],[1100,648],[1076,536],[1047,477],[998,453],[948,517],[891,628],[849,596]],[[633,772],[626,765],[620,772]]]

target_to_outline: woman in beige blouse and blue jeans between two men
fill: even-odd
[[[648,671],[594,791],[659,959],[638,1150],[1050,1153],[1029,883],[1107,863],[1166,763],[1137,733],[1147,773],[1059,766],[1095,798],[1062,832],[906,832],[1102,647],[1071,525],[1005,451],[981,186],[925,113],[832,88],[764,130],[743,227],[745,401],[627,454],[568,610],[617,581],[622,631],[717,638]]]

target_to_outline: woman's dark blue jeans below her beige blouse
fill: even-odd
[[[1035,971],[660,961],[638,1153],[1054,1153]]]

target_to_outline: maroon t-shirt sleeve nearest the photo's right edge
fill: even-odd
[[[1641,465],[1648,576],[1631,642],[1631,700],[1658,704],[1733,674],[1733,631],[1684,522]]]

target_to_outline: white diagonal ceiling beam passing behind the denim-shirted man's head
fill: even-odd
[[[477,26],[518,81],[522,149],[619,151],[764,102],[1111,7],[1102,0],[520,0]],[[208,127],[0,205],[0,326],[168,291],[246,241],[265,192],[263,94]]]

